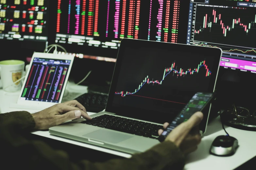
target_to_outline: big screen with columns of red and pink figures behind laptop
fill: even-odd
[[[56,7],[55,43],[81,56],[116,58],[123,38],[186,42],[189,1],[58,0]]]

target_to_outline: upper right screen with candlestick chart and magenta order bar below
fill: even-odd
[[[187,44],[219,47],[220,66],[256,73],[256,1],[190,3]]]

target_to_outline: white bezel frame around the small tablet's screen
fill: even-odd
[[[59,103],[61,103],[63,95],[64,95],[64,92],[65,92],[65,88],[66,88],[66,85],[67,85],[67,82],[68,82],[69,74],[70,74],[70,71],[71,71],[71,68],[72,68],[72,65],[73,65],[74,56],[72,56],[72,55],[62,55],[62,54],[35,52],[33,54],[32,58],[31,58],[31,62],[29,64],[29,69],[28,69],[28,71],[26,73],[26,77],[24,79],[24,82],[23,82],[23,85],[22,85],[22,88],[21,88],[21,92],[20,92],[17,104],[18,105],[29,105],[29,106],[35,106],[35,107],[39,106],[40,108],[47,108],[47,107],[53,106],[55,104],[58,104],[58,103],[55,103],[55,102],[53,103],[53,102],[21,100],[21,95],[23,93],[23,90],[24,90],[24,87],[25,87],[28,75],[29,75],[30,70],[31,70],[31,66],[32,66],[33,61],[34,61],[34,58],[59,59],[59,60],[70,60],[71,61],[70,65],[69,65],[69,69],[68,69],[67,74],[66,74],[65,81],[64,81],[63,90],[61,91],[61,94],[60,94]]]

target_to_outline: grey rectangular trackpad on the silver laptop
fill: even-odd
[[[131,137],[134,137],[133,135],[125,135],[122,133],[112,132],[104,129],[100,129],[100,130],[85,134],[83,136],[91,139],[109,142],[109,143],[119,143]]]

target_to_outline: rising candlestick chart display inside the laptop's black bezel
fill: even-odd
[[[113,106],[168,113],[182,109],[196,92],[209,88],[213,57],[149,48],[127,48],[124,55]]]

